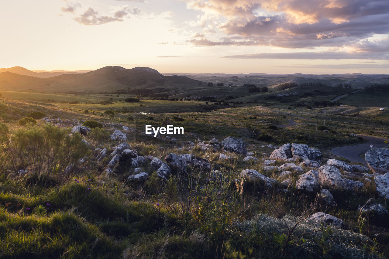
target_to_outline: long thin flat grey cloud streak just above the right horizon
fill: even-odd
[[[256,53],[223,56],[227,59],[373,59],[373,60],[389,60],[389,52],[387,53],[347,53],[347,52],[294,52],[294,53]]]

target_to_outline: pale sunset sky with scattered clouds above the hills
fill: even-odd
[[[389,73],[389,0],[4,0],[0,67]]]

